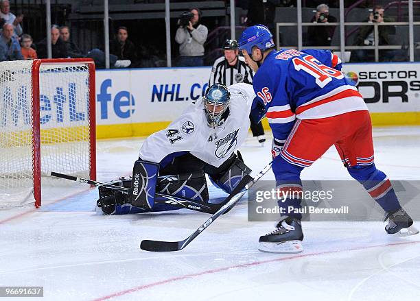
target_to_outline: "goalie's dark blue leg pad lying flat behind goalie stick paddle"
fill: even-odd
[[[199,202],[209,201],[209,190],[203,171],[180,175],[160,176],[157,191],[167,195],[186,197]]]

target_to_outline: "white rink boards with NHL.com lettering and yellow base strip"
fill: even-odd
[[[97,71],[97,138],[145,136],[165,128],[205,93],[210,71]],[[345,64],[343,72],[362,93],[373,125],[420,125],[420,63]]]

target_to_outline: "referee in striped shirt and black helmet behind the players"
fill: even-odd
[[[223,45],[224,56],[215,60],[211,69],[209,86],[212,84],[224,84],[231,86],[238,82],[253,84],[253,71],[245,64],[245,59],[239,56],[236,40],[226,40]],[[261,123],[254,123],[250,119],[250,128],[253,136],[257,137],[258,142],[264,144],[266,138],[264,136],[264,128]]]

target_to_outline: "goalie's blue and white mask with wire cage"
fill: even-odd
[[[213,84],[203,98],[207,122],[211,128],[222,125],[229,108],[231,94],[223,84]]]

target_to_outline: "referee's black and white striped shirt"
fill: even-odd
[[[253,70],[245,64],[243,56],[238,56],[237,58],[238,60],[234,66],[229,65],[224,56],[215,60],[211,69],[209,86],[212,84],[231,86],[239,82],[253,84]]]

